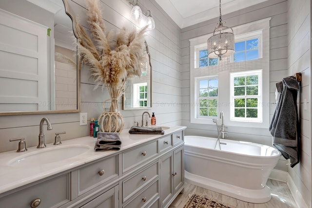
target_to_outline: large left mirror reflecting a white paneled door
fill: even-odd
[[[0,2],[0,115],[79,112],[72,19],[66,0]]]

